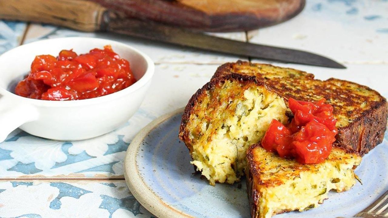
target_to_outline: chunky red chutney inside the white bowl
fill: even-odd
[[[15,93],[42,100],[90,99],[120,91],[135,81],[129,62],[106,45],[81,55],[62,50],[58,57],[36,56]]]

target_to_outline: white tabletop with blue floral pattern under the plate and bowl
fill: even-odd
[[[348,68],[273,64],[305,70],[319,79],[361,83],[388,97],[387,0],[308,0],[303,12],[290,21],[215,35],[326,55]],[[109,38],[148,54],[156,64],[151,88],[126,125],[101,137],[58,142],[15,130],[0,143],[0,217],[153,217],[126,187],[123,158],[128,145],[153,119],[185,106],[220,64],[238,58],[114,34],[1,20],[0,54],[24,43],[67,36]]]

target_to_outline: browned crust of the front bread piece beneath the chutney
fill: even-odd
[[[299,163],[296,163],[296,161],[294,160],[291,160],[291,159],[286,160],[286,159],[280,158],[276,154],[272,154],[272,152],[265,151],[265,149],[261,147],[260,143],[253,144],[249,147],[246,154],[246,159],[247,159],[246,184],[247,184],[247,192],[248,192],[251,217],[253,218],[259,218],[259,217],[265,216],[265,212],[263,214],[263,211],[266,211],[265,206],[270,203],[268,202],[270,200],[265,198],[264,190],[269,190],[272,188],[271,189],[272,191],[269,193],[271,193],[270,195],[273,195],[275,193],[273,192],[274,189],[278,189],[278,190],[280,189],[280,191],[287,190],[287,189],[284,189],[286,188],[284,185],[289,181],[295,182],[297,178],[301,178],[302,173],[308,173],[310,175],[313,175],[321,171],[322,169],[328,170],[328,168],[330,167],[332,168],[331,171],[328,170],[327,172],[332,172],[333,170],[340,171],[340,169],[344,170],[343,167],[341,168],[341,165],[343,166],[344,164],[345,165],[350,164],[350,166],[348,167],[350,168],[353,167],[353,170],[354,170],[355,167],[361,161],[361,157],[358,154],[355,154],[355,152],[349,153],[349,151],[346,151],[346,149],[343,149],[341,147],[336,147],[336,148],[333,148],[332,153],[324,163],[299,164]],[[322,166],[322,164],[324,164],[324,166]],[[345,173],[345,171],[341,171],[340,174],[342,175],[342,173]],[[315,179],[308,180],[308,177],[306,177],[306,174],[304,175],[305,176],[303,176],[303,178],[308,185],[314,184]],[[336,178],[336,176],[338,175],[333,176],[333,178]],[[318,177],[315,177],[315,178],[319,180]],[[354,180],[354,177],[352,178]],[[339,179],[339,178],[336,178],[336,179]],[[313,182],[313,183],[309,183],[309,182]],[[338,182],[335,182],[335,183],[338,184]],[[302,184],[298,183],[296,186],[298,185],[302,185]],[[352,185],[350,185],[350,187],[351,186]],[[329,188],[329,190],[334,189],[337,192],[343,192],[348,190],[350,187],[345,185],[345,186],[339,186],[336,188],[332,187],[332,188]],[[292,194],[290,192],[287,192],[287,193]],[[297,191],[295,193],[297,193]],[[277,192],[277,194],[279,194],[279,192]],[[276,196],[276,193],[275,193],[275,196]],[[268,197],[268,192],[267,192],[267,197]],[[259,201],[260,198],[264,198],[265,200]],[[327,197],[324,197],[323,199],[327,199]],[[323,199],[322,201],[319,201],[316,203],[322,204]],[[314,207],[315,206],[313,206],[312,208]],[[260,211],[261,209],[263,211]],[[300,209],[300,208],[296,208],[296,209]],[[291,209],[283,208],[283,209],[280,209],[280,210],[278,209],[274,211],[274,213],[279,214],[279,213],[285,213],[289,211],[291,211]]]

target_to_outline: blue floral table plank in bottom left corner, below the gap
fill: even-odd
[[[0,188],[0,217],[154,217],[130,194],[124,180],[110,185],[11,181],[0,182]],[[12,209],[20,202],[25,206]]]

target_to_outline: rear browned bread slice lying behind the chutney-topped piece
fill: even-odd
[[[230,73],[256,76],[285,99],[312,101],[325,98],[334,107],[338,120],[336,146],[363,156],[384,138],[387,101],[369,87],[335,78],[315,80],[313,74],[303,71],[246,61],[223,64],[211,80]],[[280,76],[276,77],[277,74]]]

